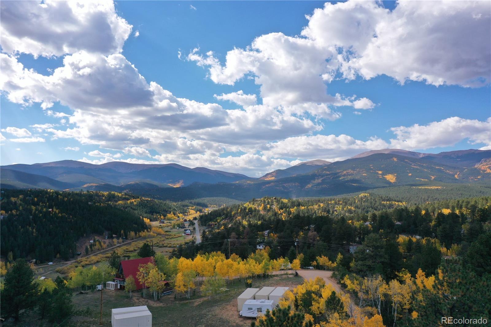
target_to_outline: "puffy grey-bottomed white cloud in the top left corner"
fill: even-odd
[[[0,19],[4,52],[46,57],[119,53],[132,29],[112,1],[2,1]]]

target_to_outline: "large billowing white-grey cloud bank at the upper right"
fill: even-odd
[[[373,1],[327,2],[300,36],[261,35],[229,51],[223,65],[211,51],[194,49],[188,59],[209,67],[216,83],[252,74],[273,105],[332,101],[325,82],[336,76],[482,86],[491,75],[490,12],[489,1],[400,1],[393,11]]]

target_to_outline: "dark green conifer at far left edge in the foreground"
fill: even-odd
[[[21,310],[31,309],[36,304],[37,284],[33,283],[34,273],[26,260],[18,259],[5,275],[1,292],[1,313],[19,320]]]

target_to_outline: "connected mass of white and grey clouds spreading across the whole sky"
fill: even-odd
[[[47,115],[62,119],[60,125],[33,125],[37,132],[119,151],[89,152],[102,158],[97,163],[131,155],[141,159],[126,161],[260,175],[297,159],[341,160],[387,146],[431,148],[464,139],[489,143],[490,120],[459,117],[393,128],[390,142],[320,134],[323,121],[341,118],[337,108],[376,106],[368,98],[330,95],[327,84],[334,79],[385,74],[401,84],[489,83],[489,2],[401,2],[393,11],[368,1],[326,3],[307,17],[300,36],[261,35],[250,47],[229,51],[224,64],[211,51],[191,51],[187,59],[206,67],[213,82],[234,85],[251,77],[260,85],[262,104],[242,90],[216,95],[241,109],[178,98],[147,82],[122,54],[132,26],[118,16],[112,1],[2,1],[0,9],[0,89],[13,103],[40,103]],[[18,54],[62,56],[63,64],[46,76],[27,69]],[[57,102],[73,112],[54,112],[50,108]],[[65,122],[69,127],[62,129]],[[451,129],[452,139],[428,133],[435,128]],[[45,140],[15,127],[4,132],[17,136],[9,139],[14,142]]]

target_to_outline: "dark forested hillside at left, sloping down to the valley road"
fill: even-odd
[[[163,202],[114,192],[4,190],[1,200],[1,254],[40,262],[73,257],[76,242],[90,234],[128,237],[157,220],[186,213],[186,203]]]

